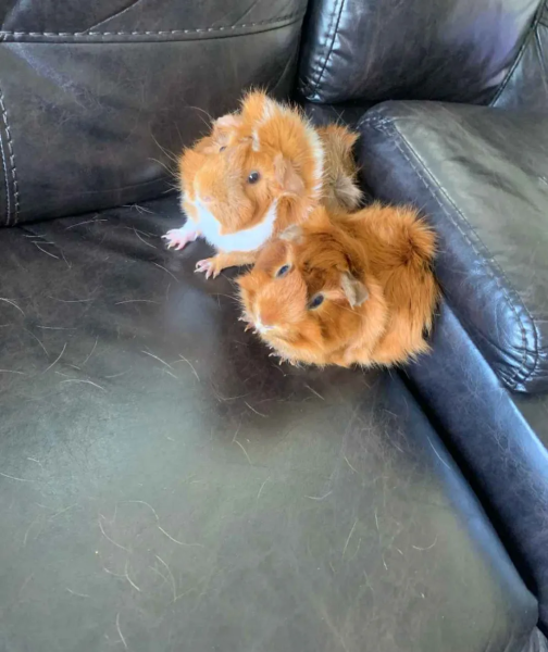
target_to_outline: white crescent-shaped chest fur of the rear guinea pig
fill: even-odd
[[[220,251],[254,251],[266,242],[274,230],[274,222],[277,217],[277,205],[274,201],[263,221],[256,226],[245,228],[235,234],[221,235],[221,224],[208,209],[207,204],[198,197],[194,202],[198,213],[198,228],[210,244]]]

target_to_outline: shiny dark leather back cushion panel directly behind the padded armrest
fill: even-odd
[[[539,5],[539,0],[312,0],[300,91],[319,102],[487,103],[510,73]],[[546,75],[537,83],[543,79]]]

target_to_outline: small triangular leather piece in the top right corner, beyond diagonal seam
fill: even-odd
[[[497,91],[494,106],[501,109],[548,110],[548,2],[538,13],[522,45],[511,73]]]

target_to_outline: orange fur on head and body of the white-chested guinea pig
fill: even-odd
[[[221,134],[222,140],[215,124],[211,136],[183,153],[179,173],[185,199],[191,202],[198,193],[211,198],[211,211],[221,233],[253,226],[264,217],[274,199],[281,200],[279,228],[303,221],[317,203],[314,187],[321,181],[322,170],[317,179],[311,143],[316,134],[301,115],[264,93],[252,92],[245,98],[233,128]],[[214,151],[214,142],[222,142],[226,149],[220,151],[217,147]],[[247,180],[252,171],[261,174],[261,180],[253,186]],[[291,184],[295,179],[302,181],[297,192],[297,184]]]

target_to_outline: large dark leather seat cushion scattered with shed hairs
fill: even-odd
[[[536,602],[397,375],[278,367],[175,199],[0,234],[0,647],[521,652]],[[125,644],[124,644],[125,641]]]

